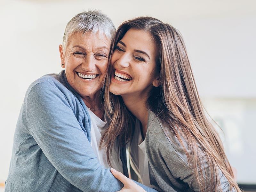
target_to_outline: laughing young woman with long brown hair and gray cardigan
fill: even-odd
[[[128,143],[132,168],[158,191],[240,191],[175,28],[151,17],[124,22],[110,64],[102,137],[110,164],[114,143]]]

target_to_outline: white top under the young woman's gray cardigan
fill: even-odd
[[[140,121],[138,119],[135,123],[134,136],[130,144],[130,160],[132,169],[139,176],[142,184],[151,188],[145,140],[142,140]]]

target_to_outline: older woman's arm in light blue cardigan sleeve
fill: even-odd
[[[47,87],[47,89],[45,89]],[[83,125],[66,96],[49,82],[36,84],[27,99],[29,130],[52,165],[82,191],[118,191],[123,184],[97,160]],[[84,124],[89,126],[85,117]]]

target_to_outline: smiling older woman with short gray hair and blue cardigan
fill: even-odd
[[[82,12],[69,21],[59,47],[65,70],[37,79],[26,92],[6,192],[123,187],[103,167],[109,166],[98,149],[105,124],[101,88],[114,33],[112,21],[100,12]],[[122,163],[115,167],[122,171]]]

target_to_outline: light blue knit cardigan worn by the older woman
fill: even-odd
[[[123,184],[98,162],[90,132],[86,106],[65,72],[37,79],[21,107],[5,191],[120,190]]]

